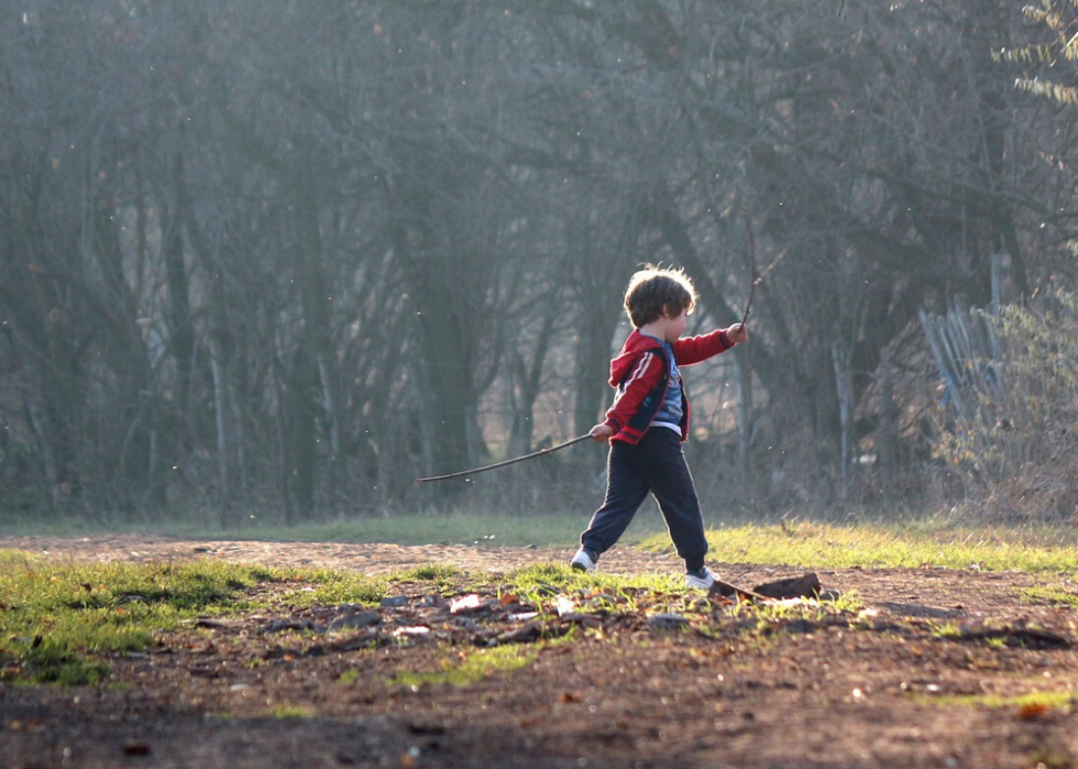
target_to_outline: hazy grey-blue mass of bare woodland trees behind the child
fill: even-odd
[[[1071,281],[1074,116],[1000,56],[1056,20],[838,11],[6,3],[0,516],[590,509],[594,447],[414,479],[585,432],[642,262],[736,320],[743,212],[784,257],[689,372],[705,507],[968,497],[919,318]]]

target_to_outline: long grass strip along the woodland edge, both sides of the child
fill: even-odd
[[[482,513],[411,513],[370,516],[299,527],[252,526],[221,530],[220,538],[277,541],[391,542],[479,547],[575,547],[586,514],[541,516]],[[177,528],[172,534],[184,534]],[[205,529],[199,536],[207,536]],[[738,524],[707,532],[717,562],[805,568],[923,565],[1031,573],[1078,571],[1078,528],[1063,526],[959,526],[943,518],[850,525],[811,521]],[[669,551],[671,542],[653,509],[641,509],[620,547]],[[512,565],[512,563],[509,564]]]

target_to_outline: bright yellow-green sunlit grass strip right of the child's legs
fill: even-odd
[[[1076,535],[1047,528],[965,528],[935,521],[838,526],[809,521],[707,531],[710,558],[729,563],[806,568],[923,565],[1027,573],[1078,572]],[[666,535],[641,547],[667,550]]]

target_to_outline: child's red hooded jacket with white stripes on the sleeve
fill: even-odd
[[[673,344],[678,366],[700,363],[726,352],[733,344],[726,330],[679,339]],[[634,330],[622,352],[610,361],[610,386],[617,389],[605,424],[614,429],[610,440],[636,443],[644,437],[667,396],[670,365],[658,339]],[[681,387],[681,440],[689,439],[689,395]]]

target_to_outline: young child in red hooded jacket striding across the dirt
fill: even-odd
[[[748,341],[741,323],[701,337],[681,339],[696,305],[692,281],[680,270],[646,266],[625,290],[634,331],[610,361],[616,388],[606,419],[591,429],[593,440],[610,443],[606,498],[581,535],[572,560],[593,571],[614,547],[650,492],[685,560],[690,587],[708,590],[716,574],[704,565],[707,539],[682,443],[689,437],[689,398],[680,366],[700,363]]]

